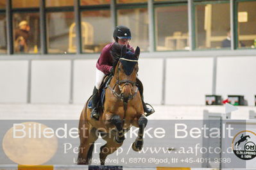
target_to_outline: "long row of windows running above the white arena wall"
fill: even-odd
[[[46,8],[39,8],[40,2]],[[12,6],[6,15],[6,4]],[[116,16],[110,3],[115,2]],[[81,21],[81,50],[101,52],[113,41],[113,21],[132,32],[130,45],[149,51],[148,0],[0,0],[0,54],[38,54],[41,52],[40,29],[46,33],[47,53],[76,53],[74,3]],[[191,0],[192,35],[189,35],[188,0],[153,0],[154,45],[156,51],[256,49],[256,0],[234,1],[234,25],[230,26],[230,0]],[[40,9],[46,16],[46,27],[40,27]],[[9,16],[11,15],[11,16]],[[113,18],[112,18],[113,17]],[[12,30],[6,19],[12,19]],[[114,20],[113,20],[114,19]],[[43,23],[44,25],[44,23]],[[234,28],[234,36],[230,35]],[[233,30],[233,29],[232,29]],[[8,34],[12,31],[11,34]],[[12,37],[7,37],[12,35]],[[150,34],[151,35],[151,34]],[[190,39],[189,36],[192,38]],[[10,41],[13,48],[8,48]],[[190,43],[189,40],[192,40]],[[192,47],[189,45],[192,44]],[[44,46],[44,45],[43,45]],[[44,46],[45,47],[45,46]]]

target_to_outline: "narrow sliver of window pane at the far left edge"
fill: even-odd
[[[6,53],[6,17],[0,14],[0,53]]]

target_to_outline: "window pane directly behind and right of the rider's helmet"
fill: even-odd
[[[148,51],[148,9],[122,9],[117,10],[117,25],[130,28],[132,40],[130,44],[134,47],[139,46],[142,51]]]

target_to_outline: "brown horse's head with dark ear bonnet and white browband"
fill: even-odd
[[[121,98],[128,102],[133,97],[136,77],[139,70],[138,59],[140,49],[136,48],[135,53],[127,51],[126,46],[121,47],[119,58],[114,59],[114,77],[121,91]]]

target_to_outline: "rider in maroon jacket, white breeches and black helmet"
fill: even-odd
[[[120,45],[126,45],[128,49],[134,52],[133,47],[129,45],[129,42],[132,36],[131,36],[131,31],[128,27],[126,26],[115,27],[113,38],[115,42],[119,43]],[[113,59],[110,54],[110,50],[112,48],[112,45],[115,42],[108,43],[108,45],[106,45],[103,48],[103,50],[101,51],[101,56],[99,57],[96,64],[96,83],[92,93],[92,112],[90,114],[90,117],[96,120],[99,120],[99,112],[98,112],[99,87],[101,86],[101,82],[103,81],[105,75],[108,75],[109,73],[114,72],[113,66],[112,66]],[[142,105],[143,105],[144,112],[146,112],[147,115],[155,112],[153,109],[147,107],[147,105],[143,101],[143,96],[141,98],[142,98]]]

